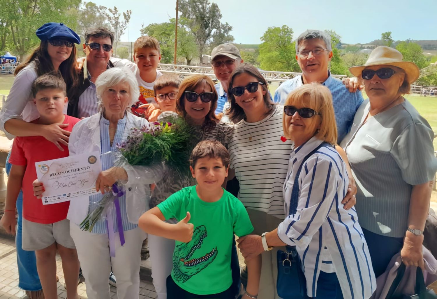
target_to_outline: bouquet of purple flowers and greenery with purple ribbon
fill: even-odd
[[[118,152],[108,152],[104,155],[111,155],[115,167],[121,167],[126,163],[148,167],[165,163],[174,171],[189,172],[191,150],[197,141],[194,129],[181,117],[172,117],[169,120],[171,122],[151,122],[143,127],[132,128],[127,141],[116,144]],[[106,215],[112,212],[114,205],[115,212],[119,214],[118,197],[124,194],[122,184],[115,182],[110,192],[106,192],[98,202],[93,203],[97,207],[87,214],[80,223],[80,228],[91,232],[98,220],[105,219]],[[109,217],[106,219],[108,222],[112,221]],[[121,216],[117,222],[121,224]],[[118,230],[122,232],[122,227],[118,227]]]

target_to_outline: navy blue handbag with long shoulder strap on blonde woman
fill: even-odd
[[[302,165],[305,161],[312,156],[321,147],[332,147],[331,144],[323,142],[317,148],[312,150],[308,155],[303,158],[301,165],[298,168],[295,176],[295,182],[291,191],[289,215],[296,213],[298,206],[298,194],[299,194],[299,175],[302,170]],[[283,299],[308,299],[306,295],[306,279],[302,271],[301,260],[296,246],[286,246],[286,252],[278,250],[276,254],[277,258],[277,282],[276,289],[277,294]]]

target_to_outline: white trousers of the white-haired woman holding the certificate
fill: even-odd
[[[87,286],[88,299],[109,299],[108,277],[114,272],[119,299],[139,298],[139,268],[141,246],[146,233],[139,227],[125,231],[126,243],[121,246],[115,234],[115,258],[109,253],[108,234],[93,234],[71,223],[70,234],[76,245],[77,255]]]

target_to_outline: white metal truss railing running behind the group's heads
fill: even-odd
[[[158,69],[163,73],[173,73],[180,76],[190,76],[194,74],[204,74],[210,76],[212,79],[217,80],[214,75],[212,67],[209,66],[197,66],[197,65],[174,65],[160,63]],[[260,70],[260,73],[266,78],[267,81],[284,82],[295,76],[301,75],[299,72],[274,72]],[[346,75],[333,75],[336,78],[346,77]]]

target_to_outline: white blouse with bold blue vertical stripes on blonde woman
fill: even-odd
[[[376,289],[370,254],[354,208],[344,210],[342,199],[349,178],[335,148],[322,147],[302,165],[297,212],[288,215],[295,175],[303,158],[322,141],[312,137],[291,151],[284,183],[285,220],[277,234],[296,245],[309,297],[315,297],[320,271],[335,272],[344,298],[369,298]]]

